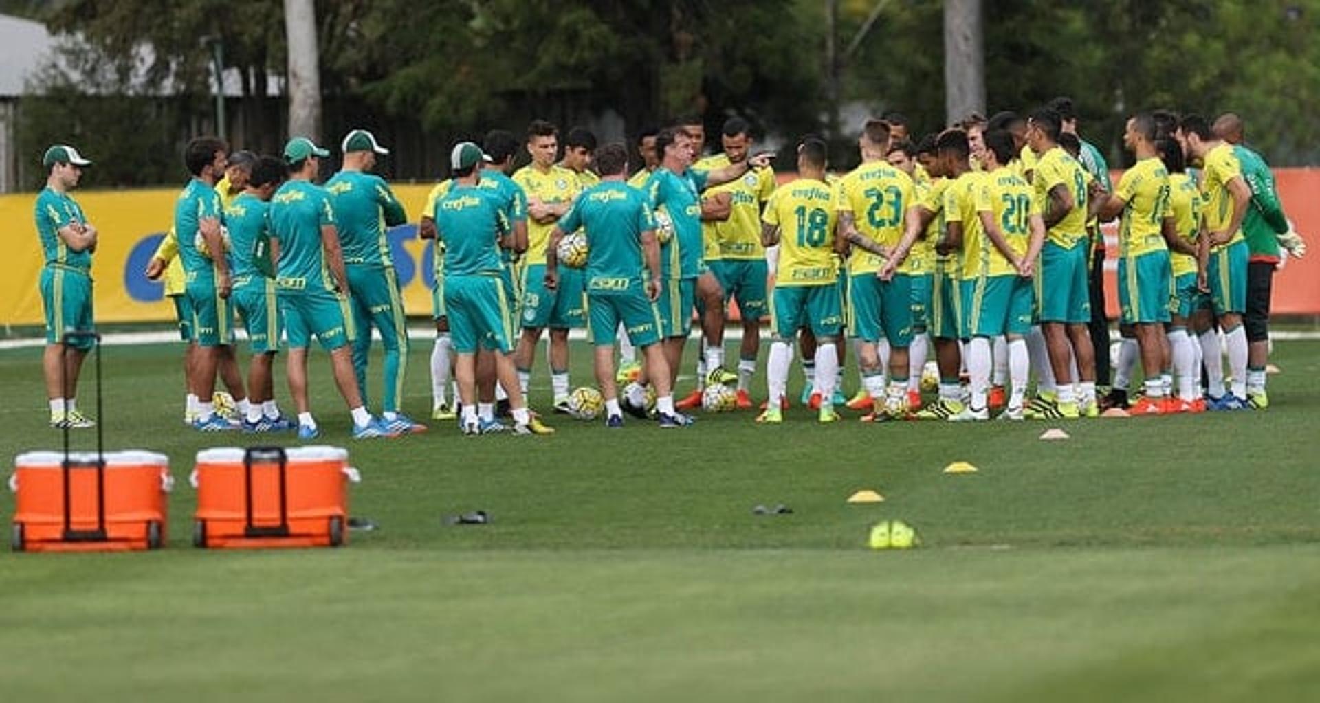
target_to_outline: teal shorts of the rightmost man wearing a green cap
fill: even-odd
[[[450,276],[445,280],[449,336],[458,353],[478,348],[513,351],[513,314],[500,276]]]

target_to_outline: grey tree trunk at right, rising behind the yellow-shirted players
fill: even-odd
[[[981,0],[944,3],[944,109],[949,124],[985,113],[985,42]]]

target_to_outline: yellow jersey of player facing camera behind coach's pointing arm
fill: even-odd
[[[708,156],[693,169],[711,171],[729,166],[725,154]],[[760,245],[760,210],[775,193],[774,169],[752,169],[741,178],[706,189],[702,195],[727,193],[733,210],[723,222],[701,223],[708,261],[719,259],[760,260],[766,248]]]

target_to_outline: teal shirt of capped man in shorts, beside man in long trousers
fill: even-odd
[[[280,241],[275,282],[281,290],[334,290],[326,270],[321,227],[334,224],[325,189],[289,181],[271,198],[271,239]]]

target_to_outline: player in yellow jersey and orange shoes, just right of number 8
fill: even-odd
[[[1118,305],[1122,324],[1131,326],[1140,348],[1146,372],[1146,393],[1133,405],[1133,414],[1160,414],[1167,409],[1164,384],[1164,350],[1168,340],[1164,323],[1170,322],[1172,269],[1164,219],[1168,216],[1168,170],[1155,148],[1155,120],[1142,112],[1127,120],[1123,144],[1133,150],[1137,165],[1127,169],[1118,190],[1100,210],[1102,219],[1122,212],[1118,232]],[[1122,375],[1122,369],[1119,369]]]

